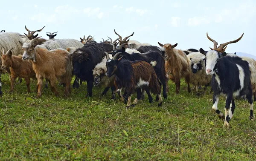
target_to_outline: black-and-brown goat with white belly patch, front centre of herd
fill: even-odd
[[[116,53],[112,59],[108,57],[108,54],[105,53],[107,58],[107,76],[111,78],[111,76],[116,75],[114,84],[116,89],[124,89],[124,98],[125,102],[127,101],[127,108],[130,106],[134,106],[138,103],[141,98],[141,89],[145,89],[148,94],[148,99],[150,103],[153,103],[153,99],[151,97],[150,92],[156,94],[159,98],[158,106],[162,105],[162,97],[161,97],[161,87],[157,81],[157,75],[154,72],[152,66],[157,64],[156,61],[151,61],[150,64],[141,61],[130,61],[130,60],[116,60],[116,58],[122,52]],[[137,98],[135,98],[133,105],[131,105],[131,95],[137,92]]]

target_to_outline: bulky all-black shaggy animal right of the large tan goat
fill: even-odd
[[[106,43],[107,44],[107,43]],[[108,44],[110,45],[110,44]],[[111,45],[110,45],[111,46]],[[87,96],[92,96],[93,90],[93,69],[102,61],[105,56],[103,46],[100,43],[88,43],[82,48],[76,49],[72,54],[73,73],[77,78],[87,81]],[[76,83],[74,81],[74,83]]]

